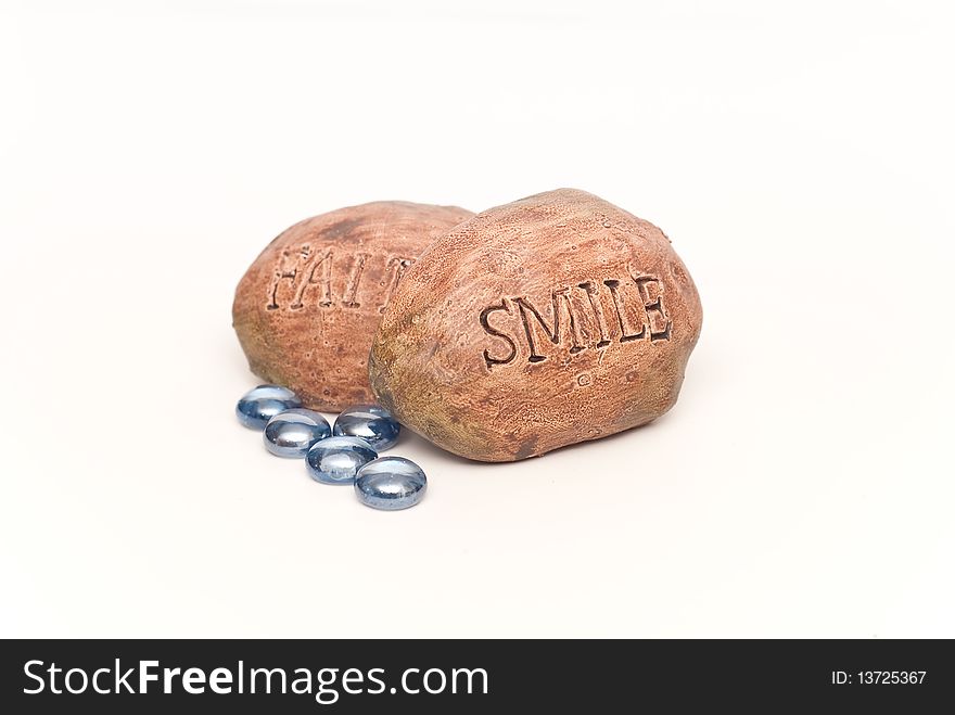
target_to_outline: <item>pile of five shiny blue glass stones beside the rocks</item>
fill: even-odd
[[[305,458],[308,473],[322,484],[354,484],[358,500],[374,509],[407,509],[421,501],[428,478],[404,457],[379,457],[398,441],[402,425],[378,405],[356,405],[334,427],[303,409],[291,390],[259,385],[235,406],[239,421],[262,430],[265,447],[278,457]]]

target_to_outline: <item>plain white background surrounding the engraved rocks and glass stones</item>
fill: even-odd
[[[948,7],[2,2],[0,635],[955,636]],[[562,186],[696,279],[670,414],[398,513],[238,424],[286,226]]]

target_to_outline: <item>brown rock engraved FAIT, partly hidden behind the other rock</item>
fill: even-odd
[[[250,369],[313,409],[371,401],[368,349],[389,297],[421,252],[470,216],[382,201],[284,231],[235,289],[232,324]]]

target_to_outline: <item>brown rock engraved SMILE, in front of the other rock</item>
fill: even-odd
[[[440,447],[524,459],[663,414],[701,321],[660,229],[560,189],[479,214],[422,254],[384,312],[371,385]]]

